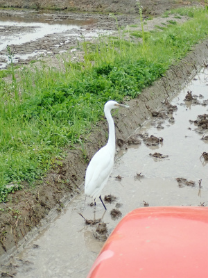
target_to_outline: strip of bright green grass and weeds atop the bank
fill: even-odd
[[[62,71],[33,63],[0,72],[0,202],[6,201],[8,183],[33,184],[62,159],[65,147],[80,143],[81,148],[81,138],[103,118],[105,101],[137,97],[207,38],[207,10],[177,11],[182,13],[191,19],[142,33],[143,44],[124,40],[121,31],[119,38],[84,42],[84,60],[64,60]],[[8,74],[11,83],[3,79]]]

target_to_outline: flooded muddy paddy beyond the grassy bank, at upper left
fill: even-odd
[[[0,15],[0,69],[12,62],[25,64],[46,55],[60,54],[104,30],[92,28],[96,19],[56,13],[17,12]],[[8,50],[10,47],[10,51]]]

